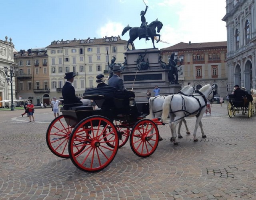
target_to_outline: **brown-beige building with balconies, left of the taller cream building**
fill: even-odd
[[[49,105],[49,70],[45,48],[15,52],[14,61],[18,64],[16,98],[30,99],[34,105],[40,102]]]

